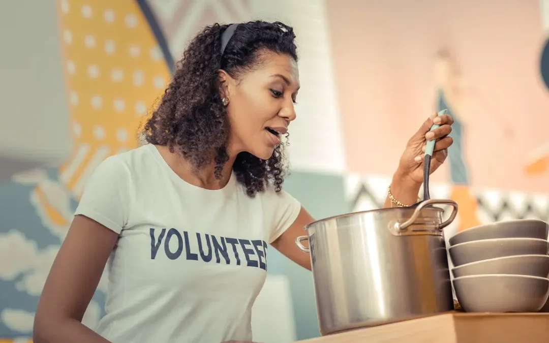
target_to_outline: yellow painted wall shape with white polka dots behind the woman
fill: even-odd
[[[109,154],[137,147],[143,114],[169,81],[156,38],[134,0],[58,0],[74,151],[60,172],[72,190]],[[82,144],[91,149],[76,160]],[[98,155],[99,154],[99,155]]]

